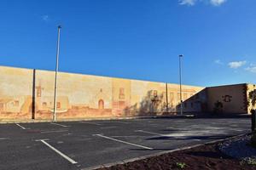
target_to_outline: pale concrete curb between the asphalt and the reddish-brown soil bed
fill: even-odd
[[[125,163],[129,163],[129,162],[132,162],[132,161],[140,161],[140,160],[143,160],[143,159],[147,159],[149,157],[160,156],[160,155],[163,155],[163,154],[169,154],[169,153],[173,153],[173,152],[180,151],[180,150],[189,150],[189,149],[192,149],[192,148],[195,148],[195,147],[198,147],[198,146],[202,146],[202,145],[206,145],[206,144],[215,144],[215,143],[218,143],[218,142],[222,142],[224,140],[235,139],[235,138],[245,136],[245,135],[248,135],[248,134],[250,134],[250,133],[239,134],[239,135],[232,136],[232,137],[229,137],[229,138],[226,138],[226,139],[212,140],[212,141],[206,142],[204,144],[194,144],[194,145],[190,145],[190,146],[185,146],[185,147],[178,148],[178,149],[175,149],[175,150],[162,151],[162,152],[150,154],[148,156],[138,156],[138,157],[131,158],[131,159],[116,161],[116,162],[108,163],[108,164],[102,164],[102,165],[99,165],[99,166],[96,166],[96,167],[86,167],[86,168],[82,168],[81,170],[96,170],[96,169],[102,168],[102,167],[112,167],[112,166],[115,166],[115,165],[123,165]]]

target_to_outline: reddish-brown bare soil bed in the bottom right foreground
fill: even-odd
[[[238,159],[224,155],[218,150],[218,144],[205,144],[189,150],[180,150],[153,156],[147,159],[132,161],[113,167],[99,168],[98,170],[169,170],[169,169],[216,169],[216,170],[250,170],[256,166],[241,164]]]

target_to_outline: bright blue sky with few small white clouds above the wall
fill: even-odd
[[[255,0],[1,0],[0,65],[200,86],[256,83]]]

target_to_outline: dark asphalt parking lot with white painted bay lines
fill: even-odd
[[[87,169],[250,132],[248,118],[0,125],[0,169]]]

